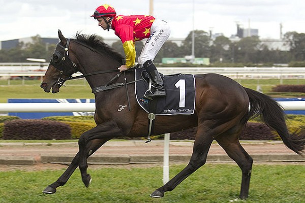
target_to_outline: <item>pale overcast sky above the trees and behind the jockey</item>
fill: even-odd
[[[193,9],[194,2],[194,9]],[[57,38],[57,29],[72,38],[77,31],[115,38],[113,31],[98,26],[92,15],[102,4],[112,5],[117,14],[148,14],[149,0],[0,0],[0,41],[40,35]],[[260,39],[283,33],[305,33],[303,0],[154,0],[154,16],[171,26],[170,38],[186,38],[193,29],[236,34],[236,23],[259,29]]]

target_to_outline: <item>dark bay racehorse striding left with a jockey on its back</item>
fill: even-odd
[[[134,81],[133,71],[126,71],[126,80],[117,67],[124,57],[100,41],[95,35],[76,34],[76,39],[66,39],[58,31],[60,42],[41,83],[45,92],[56,93],[75,72],[83,74],[92,89],[105,91],[95,93],[96,127],[84,132],[79,138],[79,152],[62,176],[46,187],[43,193],[53,194],[56,188],[66,184],[79,166],[82,181],[89,186],[91,177],[87,174],[87,158],[104,143],[115,137],[146,137],[148,118],[136,101],[134,83],[120,88],[106,90],[111,84],[125,84]],[[195,75],[195,113],[191,115],[157,116],[154,134],[179,131],[197,126],[198,130],[189,164],[164,186],[151,193],[151,197],[163,197],[179,183],[205,164],[211,143],[216,140],[241,169],[239,197],[246,199],[249,193],[253,159],[238,141],[240,132],[249,118],[260,116],[269,127],[276,130],[285,145],[302,154],[305,134],[289,133],[282,108],[272,98],[257,91],[242,87],[234,80],[217,75]],[[127,94],[128,92],[128,94]],[[129,95],[130,102],[128,102]],[[128,108],[117,111],[119,105]],[[250,104],[250,110],[249,110]]]

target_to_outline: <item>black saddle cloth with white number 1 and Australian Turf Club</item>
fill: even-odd
[[[162,74],[160,74],[162,75]],[[162,75],[163,77],[163,75]],[[140,80],[143,79],[143,80]],[[152,112],[152,100],[144,96],[148,89],[148,77],[145,69],[135,70],[135,92],[138,104],[147,112]],[[165,97],[154,98],[157,102],[156,115],[194,114],[195,78],[191,74],[176,74],[163,77]],[[154,88],[151,88],[154,91]],[[156,101],[157,99],[157,101]]]

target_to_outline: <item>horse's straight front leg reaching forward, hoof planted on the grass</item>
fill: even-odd
[[[104,140],[93,140],[87,144],[87,157],[96,152],[103,144],[105,144],[109,139]],[[71,164],[68,166],[66,171],[60,176],[54,183],[47,186],[42,192],[45,194],[53,194],[56,192],[56,188],[63,186],[67,183],[69,178],[72,176],[73,172],[76,170],[79,162],[79,152],[73,158]]]

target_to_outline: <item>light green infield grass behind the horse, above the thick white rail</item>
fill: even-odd
[[[241,85],[255,89],[257,85],[260,85],[263,93],[271,95],[273,97],[305,97],[305,93],[278,93],[271,92],[271,88],[279,85],[279,79],[237,79]],[[10,81],[0,80],[0,103],[7,103],[8,98],[94,98],[94,94],[91,93],[91,89],[85,80],[72,80],[67,81],[65,84],[67,87],[60,88],[60,91],[56,94],[46,93],[40,88],[40,80],[25,80],[24,85],[20,80]],[[283,84],[305,84],[303,79],[285,79]]]

